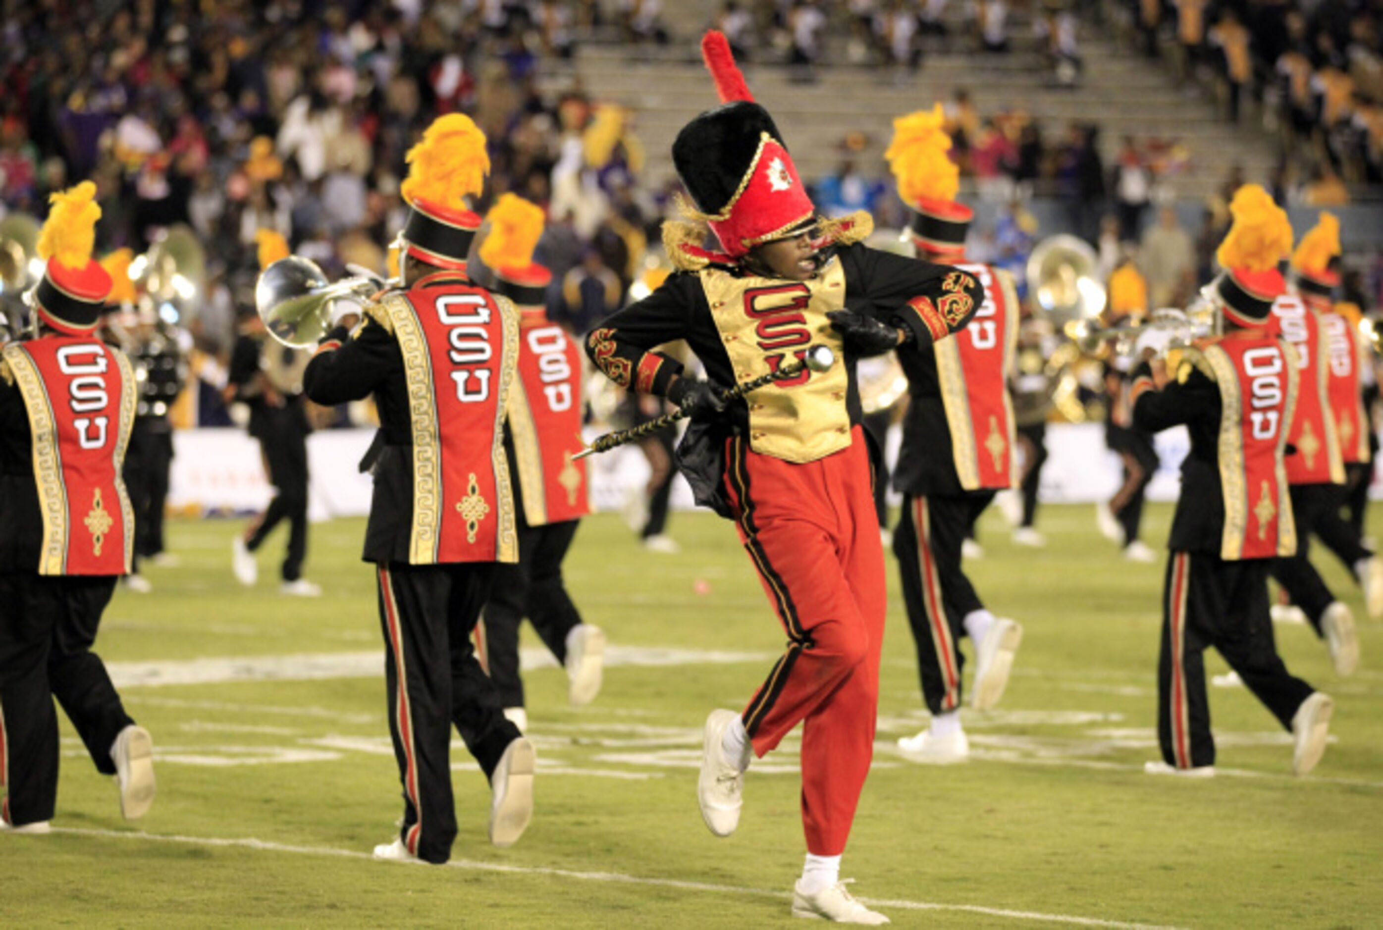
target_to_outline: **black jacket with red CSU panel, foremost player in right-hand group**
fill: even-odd
[[[1185,351],[1177,379],[1153,390],[1134,373],[1134,424],[1185,424],[1191,452],[1167,547],[1227,561],[1296,553],[1283,453],[1297,401],[1297,359],[1267,329],[1236,329]]]

